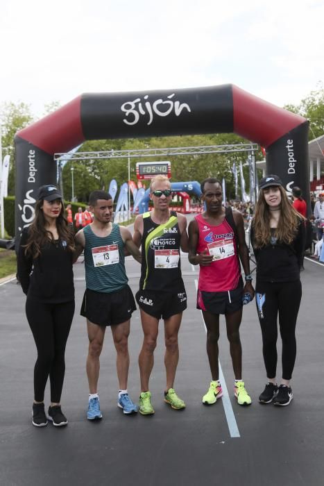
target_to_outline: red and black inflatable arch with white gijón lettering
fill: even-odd
[[[85,140],[236,133],[266,148],[266,171],[309,203],[308,121],[235,85],[82,94],[15,135],[16,235],[31,224],[37,188],[56,183],[54,153]],[[308,204],[310,207],[310,204]]]

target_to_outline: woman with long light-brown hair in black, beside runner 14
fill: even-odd
[[[259,198],[251,224],[257,261],[255,300],[262,330],[267,383],[260,403],[289,405],[290,380],[296,360],[296,321],[302,296],[300,267],[305,244],[304,219],[291,206],[278,176],[259,182]],[[277,338],[282,338],[282,380],[278,387]]]

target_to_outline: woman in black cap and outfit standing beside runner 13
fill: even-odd
[[[27,295],[26,317],[37,347],[34,368],[33,425],[44,427],[44,390],[49,378],[49,419],[67,425],[60,398],[65,376],[65,346],[74,316],[72,260],[74,235],[64,215],[62,195],[53,185],[39,189],[35,219],[22,233],[18,276]]]

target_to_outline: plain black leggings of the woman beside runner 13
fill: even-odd
[[[37,347],[34,399],[44,401],[49,378],[51,402],[60,403],[65,376],[65,346],[74,316],[74,301],[42,303],[27,299],[26,316]]]

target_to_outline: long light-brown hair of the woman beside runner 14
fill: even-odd
[[[282,243],[291,244],[295,237],[302,216],[296,211],[287,197],[286,191],[278,186],[281,194],[280,219],[278,228],[275,228],[275,236]],[[270,231],[270,210],[264,199],[264,190],[259,192],[259,198],[255,205],[255,217],[252,220],[255,231],[255,247],[266,246],[271,238]]]

